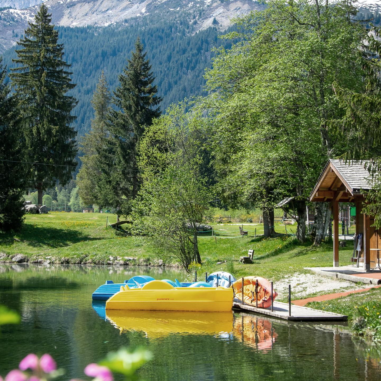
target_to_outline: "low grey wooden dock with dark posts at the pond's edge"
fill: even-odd
[[[346,315],[334,314],[333,312],[319,311],[308,307],[291,305],[291,316],[288,314],[288,304],[275,302],[274,311],[269,308],[256,308],[249,304],[241,304],[234,302],[233,309],[255,312],[256,314],[269,315],[283,320],[298,321],[298,322],[346,322]]]

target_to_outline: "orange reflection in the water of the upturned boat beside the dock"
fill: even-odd
[[[234,319],[233,335],[243,344],[267,352],[278,337],[272,322],[256,315],[238,315]]]

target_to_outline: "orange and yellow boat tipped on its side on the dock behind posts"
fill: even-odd
[[[243,303],[256,305],[255,287],[258,280],[258,307],[267,308],[271,306],[271,283],[261,277],[243,278]],[[242,300],[242,278],[233,283],[235,297]],[[277,293],[273,290],[272,296],[275,299]]]

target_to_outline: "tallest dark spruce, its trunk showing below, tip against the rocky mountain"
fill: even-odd
[[[19,66],[11,69],[11,80],[26,139],[26,161],[33,163],[31,177],[42,204],[42,192],[55,181],[69,181],[77,165],[76,132],[70,126],[77,101],[66,95],[75,84],[44,4],[17,44],[21,49],[13,62]]]

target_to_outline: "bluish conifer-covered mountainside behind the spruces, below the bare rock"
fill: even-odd
[[[210,66],[214,46],[229,43],[218,38],[215,27],[192,35],[192,27],[181,16],[168,20],[145,18],[109,27],[58,27],[60,42],[65,46],[66,60],[72,64],[73,82],[77,83],[71,94],[78,99],[74,122],[78,138],[90,128],[93,109],[90,100],[104,70],[110,88],[118,84],[118,74],[130,57],[138,36],[152,63],[163,97],[162,109],[172,102],[203,93],[204,70]],[[12,67],[14,48],[4,53],[4,62]]]

